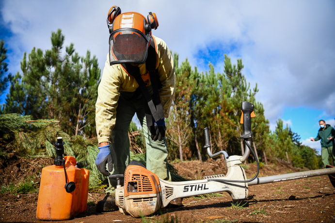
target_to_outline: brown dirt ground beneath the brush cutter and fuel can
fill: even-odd
[[[0,183],[16,182],[21,178],[40,180],[39,172],[44,166],[52,163],[49,159],[12,160],[0,159]],[[204,176],[225,174],[226,167],[223,160],[189,161],[174,163],[179,174],[185,178],[201,179]],[[256,165],[243,165],[248,178],[256,172]],[[263,165],[260,177],[292,172],[306,171],[294,168],[288,164],[278,163]],[[104,194],[90,191],[88,208],[75,218],[62,221],[65,223],[111,223],[111,222],[185,222],[185,223],[247,223],[247,222],[335,222],[335,189],[328,176],[302,178],[270,184],[249,187],[247,204],[243,207],[232,205],[232,198],[228,193],[210,196],[184,198],[183,207],[164,208],[150,217],[142,219],[132,218],[119,211],[110,213],[96,213],[97,201],[103,199]],[[36,222],[35,218],[38,193],[9,194],[0,193],[0,222]]]

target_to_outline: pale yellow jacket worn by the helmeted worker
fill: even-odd
[[[175,66],[171,52],[165,42],[158,37],[153,36],[153,38],[155,38],[158,54],[156,69],[158,69],[162,84],[160,101],[163,106],[164,117],[168,118],[175,91]],[[141,74],[147,73],[145,63],[138,67]],[[151,82],[148,86],[150,85]],[[107,55],[96,100],[96,134],[99,143],[113,142],[111,135],[115,126],[116,107],[120,91],[134,92],[138,87],[135,78],[129,76],[120,64],[110,65],[109,55]]]

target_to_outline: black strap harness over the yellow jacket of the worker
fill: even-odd
[[[155,41],[151,38],[150,45],[148,47],[148,56],[145,60],[146,70],[149,72],[151,86],[153,90],[153,95],[150,96],[149,90],[146,88],[144,80],[141,77],[140,68],[137,66],[132,66],[130,64],[121,64],[128,74],[133,76],[140,86],[134,92],[134,97],[138,96],[140,93],[143,95],[145,118],[147,126],[152,126],[152,118],[155,121],[164,119],[163,106],[160,102],[159,89],[162,88],[160,83],[160,76],[156,70],[156,49]],[[132,99],[132,98],[131,98]],[[129,100],[131,100],[129,99]]]

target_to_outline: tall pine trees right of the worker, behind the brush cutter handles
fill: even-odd
[[[269,132],[269,121],[264,117],[263,105],[255,101],[258,92],[257,85],[250,89],[242,74],[242,60],[233,65],[225,55],[224,74],[215,73],[214,66],[209,63],[209,71],[199,74],[197,68],[191,69],[186,60],[178,65],[178,55],[175,60],[175,98],[171,108],[168,123],[169,158],[190,159],[197,157],[202,160],[206,151],[201,154],[203,129],[210,129],[211,152],[227,150],[230,154],[240,154],[240,138],[242,126],[239,123],[241,101],[251,101],[255,104],[255,112],[259,112],[253,126],[256,133],[256,147],[265,150],[265,141]],[[188,105],[188,107],[186,106]],[[189,137],[192,134],[192,138]],[[191,140],[192,139],[192,140]],[[185,157],[186,156],[186,157]],[[185,158],[184,158],[185,157]]]

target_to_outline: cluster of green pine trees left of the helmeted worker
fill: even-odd
[[[70,135],[95,136],[95,102],[100,69],[90,51],[85,57],[65,48],[61,30],[51,33],[51,49],[33,48],[24,53],[21,74],[10,77],[10,92],[3,113],[31,115],[33,119],[57,119]]]

